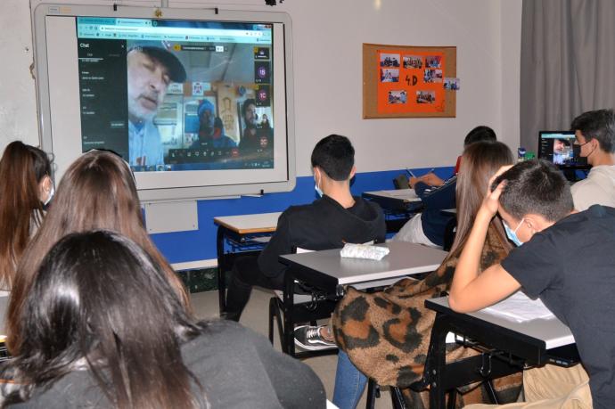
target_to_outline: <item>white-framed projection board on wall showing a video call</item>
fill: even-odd
[[[82,152],[108,149],[142,200],[294,188],[286,13],[41,4],[34,15],[56,180]]]

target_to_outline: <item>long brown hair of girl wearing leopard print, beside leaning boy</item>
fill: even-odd
[[[480,141],[465,148],[456,185],[457,233],[447,258],[458,256],[463,249],[488,190],[489,179],[496,175],[499,168],[512,163],[512,151],[501,142]],[[496,228],[496,232],[500,233],[502,241],[508,243],[504,239],[502,224],[496,219],[494,218],[491,224]]]

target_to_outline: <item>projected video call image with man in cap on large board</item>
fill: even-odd
[[[134,171],[274,168],[273,25],[77,18],[82,151]]]

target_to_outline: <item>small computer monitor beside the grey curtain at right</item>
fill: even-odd
[[[574,155],[574,142],[574,131],[540,131],[538,158],[549,160],[560,168],[587,168],[586,158]]]

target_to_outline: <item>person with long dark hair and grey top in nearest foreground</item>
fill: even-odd
[[[76,408],[324,407],[307,365],[228,321],[196,322],[164,268],[118,233],[73,233],[23,300],[4,404]]]

